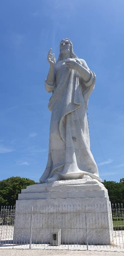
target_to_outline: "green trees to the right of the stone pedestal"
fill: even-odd
[[[120,179],[120,182],[104,180],[103,184],[108,189],[110,202],[124,205],[124,178]]]

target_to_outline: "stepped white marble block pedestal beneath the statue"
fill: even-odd
[[[29,243],[31,238],[32,243],[51,244],[51,234],[58,230],[61,244],[111,244],[111,205],[102,183],[85,178],[22,189],[16,201],[14,242]]]

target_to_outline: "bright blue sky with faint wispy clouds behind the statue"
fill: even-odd
[[[97,78],[88,109],[99,176],[116,182],[124,177],[123,10],[123,0],[1,1],[0,180],[38,182],[46,167],[47,53],[52,48],[57,59],[66,37]]]

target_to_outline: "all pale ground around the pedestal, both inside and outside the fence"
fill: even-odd
[[[40,256],[40,255],[100,255],[100,256],[124,256],[124,233],[115,232],[113,233],[113,244],[111,246],[101,245],[88,245],[88,251],[86,245],[60,245],[53,246],[47,244],[31,245],[29,250],[29,244],[27,245],[13,245],[13,227],[9,229],[4,226],[4,230],[0,227],[0,256]],[[14,249],[12,249],[14,248]],[[69,249],[69,250],[68,250]]]

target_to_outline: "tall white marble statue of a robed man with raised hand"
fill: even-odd
[[[86,110],[94,89],[95,74],[86,61],[73,51],[72,42],[60,42],[60,54],[55,61],[48,52],[50,64],[45,89],[52,92],[48,103],[51,113],[48,162],[41,183],[57,180],[97,179],[98,168],[90,150]]]

